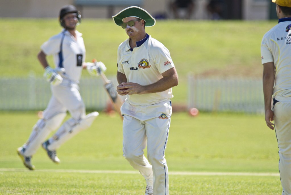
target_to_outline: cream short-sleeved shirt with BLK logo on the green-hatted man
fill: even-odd
[[[129,39],[118,47],[118,72],[125,74],[127,82],[149,85],[163,78],[162,73],[174,67],[168,49],[156,39],[147,36],[130,50]],[[172,98],[172,88],[147,94],[126,95],[125,101],[132,105],[152,105]]]

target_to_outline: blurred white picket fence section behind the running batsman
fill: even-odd
[[[116,78],[109,79],[117,86]],[[109,98],[100,78],[82,78],[79,87],[87,109],[106,107]],[[0,110],[43,110],[51,95],[43,78],[0,78]]]

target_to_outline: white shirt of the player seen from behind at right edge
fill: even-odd
[[[281,18],[262,39],[262,64],[274,62],[273,95],[291,97],[291,18]]]

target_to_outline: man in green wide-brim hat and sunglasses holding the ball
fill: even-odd
[[[168,49],[145,32],[155,19],[132,6],[113,16],[129,39],[118,47],[117,92],[126,95],[123,114],[123,153],[145,177],[145,194],[168,194],[165,149],[171,121],[172,87],[178,75]],[[147,159],[143,150],[147,145]],[[151,163],[151,164],[150,164]]]

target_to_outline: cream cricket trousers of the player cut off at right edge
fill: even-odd
[[[291,99],[275,96],[274,124],[279,148],[282,195],[291,194]]]

